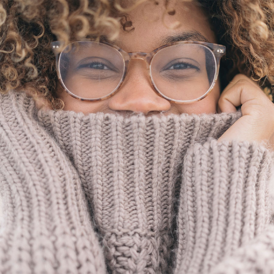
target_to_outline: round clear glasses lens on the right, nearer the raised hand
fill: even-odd
[[[212,85],[216,63],[213,52],[200,44],[175,44],[158,51],[151,76],[160,93],[173,100],[195,100]]]

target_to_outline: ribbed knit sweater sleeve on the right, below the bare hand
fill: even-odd
[[[271,170],[273,153],[257,142],[209,139],[188,149],[175,273],[273,272]]]

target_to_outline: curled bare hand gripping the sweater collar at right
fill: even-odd
[[[258,141],[274,150],[274,104],[254,81],[242,74],[236,75],[221,93],[218,113],[235,112],[240,105],[242,117],[218,141]]]

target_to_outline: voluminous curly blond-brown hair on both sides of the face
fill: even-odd
[[[146,0],[123,7],[121,0],[1,0],[0,92],[32,89],[55,110],[64,103],[56,94],[58,83],[51,42],[86,37],[99,39],[106,28],[117,37],[121,27],[134,26],[127,12]],[[159,3],[152,0],[155,5]],[[274,3],[264,0],[197,0],[206,11],[218,42],[227,47],[220,69],[221,85],[237,73],[274,86]],[[165,13],[174,15],[168,0]]]

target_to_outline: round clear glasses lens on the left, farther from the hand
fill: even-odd
[[[76,96],[98,99],[122,81],[124,59],[113,47],[92,41],[69,44],[60,54],[59,68],[65,87]]]

